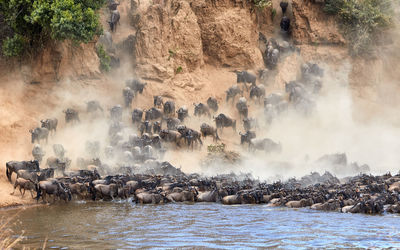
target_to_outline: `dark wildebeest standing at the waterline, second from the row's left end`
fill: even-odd
[[[70,201],[72,198],[69,188],[55,179],[39,182],[36,200],[39,201],[40,196],[42,196],[43,201],[47,202],[48,195],[53,195],[53,202],[55,202],[56,196],[65,202]]]

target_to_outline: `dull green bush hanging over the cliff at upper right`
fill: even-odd
[[[336,15],[353,55],[368,53],[377,36],[392,24],[391,0],[326,0],[324,11]]]

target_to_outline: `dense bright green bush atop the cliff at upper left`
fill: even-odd
[[[0,15],[15,36],[23,37],[22,40],[27,41],[29,49],[37,49],[49,39],[87,43],[102,32],[97,10],[105,2],[106,0],[0,0]]]

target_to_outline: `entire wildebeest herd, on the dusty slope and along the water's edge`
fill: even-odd
[[[226,91],[226,103],[235,103],[236,117],[241,119],[244,133],[240,133],[240,144],[249,151],[263,151],[265,154],[279,153],[280,143],[269,138],[256,138],[258,120],[251,118],[245,96],[254,105],[264,109],[265,122],[293,108],[308,115],[314,107],[313,96],[322,86],[323,70],[314,63],[301,67],[301,79],[286,84],[287,95],[272,93],[266,95],[264,86],[256,83],[262,79],[263,72],[256,75],[247,71],[236,71],[237,84]],[[250,85],[250,86],[248,86]],[[12,182],[16,173],[14,192],[19,188],[21,195],[25,190],[31,192],[37,201],[65,202],[74,199],[114,200],[131,199],[141,204],[160,204],[168,202],[221,202],[232,204],[268,204],[290,208],[311,207],[325,211],[379,214],[400,212],[400,175],[383,176],[358,175],[339,181],[326,172],[324,175],[312,173],[301,179],[268,184],[255,180],[249,175],[225,174],[204,177],[199,174],[185,174],[167,161],[162,161],[166,150],[196,150],[210,136],[215,143],[223,140],[223,129],[237,129],[236,120],[227,114],[219,113],[220,103],[210,97],[205,103],[194,105],[193,115],[213,117],[215,124],[203,123],[199,130],[189,128],[185,120],[190,119],[188,108],[175,108],[172,100],[154,96],[153,107],[147,110],[132,108],[133,100],[146,87],[141,80],[126,81],[122,91],[124,106],[114,106],[109,114],[109,145],[88,141],[86,150],[92,158],[79,158],[76,167],[70,170],[71,160],[65,156],[61,144],[52,146],[55,156],[47,158],[47,168],[41,168],[45,152],[40,143],[47,142],[50,133],[57,133],[58,120],[41,120],[41,127],[31,130],[34,144],[34,160],[10,161],[6,163],[6,175]],[[104,112],[98,101],[86,103],[86,112]],[[122,122],[123,111],[131,110],[131,124]],[[65,125],[76,126],[81,122],[79,112],[68,108],[64,110]],[[217,115],[218,114],[218,115]],[[210,120],[210,119],[209,119]],[[121,131],[125,126],[133,126],[138,134],[124,138]],[[221,138],[222,137],[222,138]],[[244,146],[244,144],[247,144]],[[115,166],[108,166],[109,159]],[[57,176],[55,178],[55,176]]]

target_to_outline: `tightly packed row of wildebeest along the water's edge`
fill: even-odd
[[[36,170],[37,162],[8,163],[7,169]],[[344,184],[325,172],[311,173],[300,180],[275,182],[255,181],[249,175],[219,175],[202,178],[186,175],[172,166],[158,169],[159,174],[113,175],[101,178],[96,170],[80,170],[69,177],[51,178],[34,182],[29,176],[17,178],[14,192],[22,196],[31,192],[32,198],[49,202],[75,197],[81,200],[114,200],[131,198],[140,204],[169,202],[221,202],[234,204],[267,204],[270,207],[309,207],[322,211],[381,214],[400,213],[400,175],[359,175]],[[44,173],[44,172],[43,172]],[[311,183],[311,184],[310,184]],[[315,184],[312,184],[315,183]],[[34,193],[36,192],[36,195]]]

